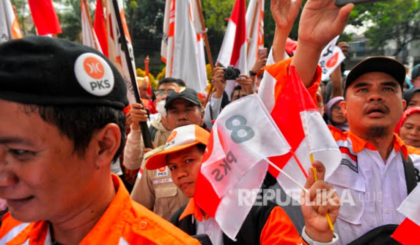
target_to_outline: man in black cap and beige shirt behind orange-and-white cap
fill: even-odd
[[[169,130],[190,124],[202,126],[204,123],[204,111],[201,108],[200,99],[197,92],[192,88],[182,86],[169,90],[166,96],[165,109],[165,119]],[[173,183],[169,169],[166,167],[156,170],[144,168],[146,160],[150,156],[163,151],[163,147],[164,144],[144,155],[143,174],[134,184],[131,197],[164,219],[169,220],[189,199]]]

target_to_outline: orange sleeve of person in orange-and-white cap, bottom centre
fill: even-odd
[[[280,207],[271,210],[260,235],[261,245],[271,244],[306,244],[299,236],[295,225]]]

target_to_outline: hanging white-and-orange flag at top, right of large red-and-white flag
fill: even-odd
[[[264,0],[250,0],[246,10],[246,36],[248,37],[247,71],[258,60],[258,50],[264,47]]]

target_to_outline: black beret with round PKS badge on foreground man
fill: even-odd
[[[96,105],[123,109],[127,87],[94,48],[31,36],[0,44],[0,99],[35,105]]]

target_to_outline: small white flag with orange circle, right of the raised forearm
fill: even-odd
[[[332,39],[324,47],[324,50],[321,53],[318,65],[322,70],[322,81],[327,80],[335,68],[337,68],[346,59],[346,56],[343,54],[343,51],[341,51],[341,48],[336,45],[338,39],[339,36]]]

